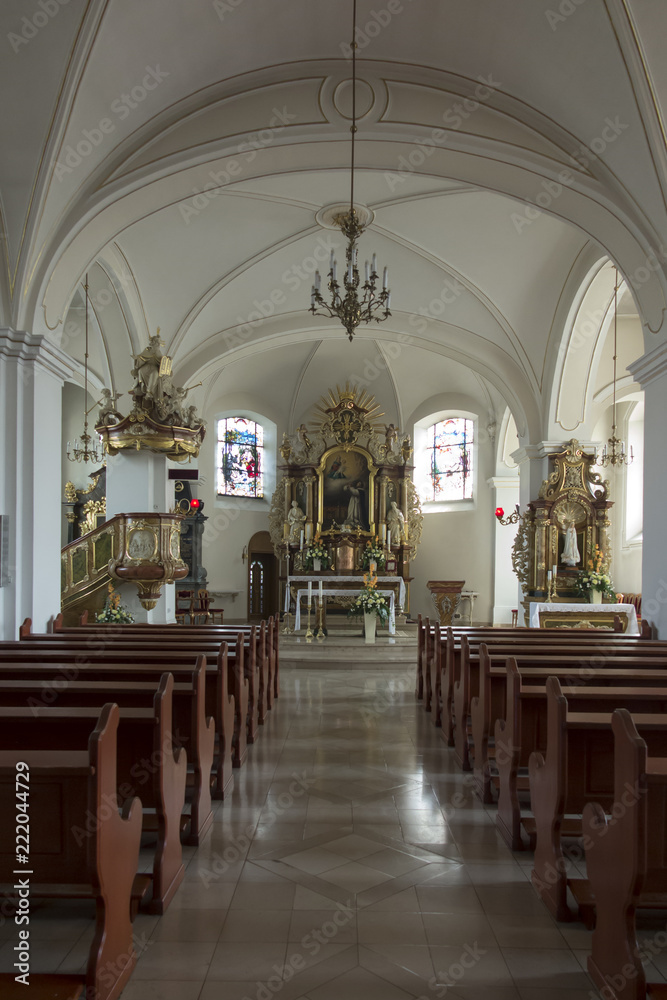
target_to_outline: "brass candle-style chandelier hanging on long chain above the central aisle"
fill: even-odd
[[[350,165],[350,208],[342,215],[337,215],[334,222],[347,239],[345,249],[345,273],[342,287],[337,280],[337,263],[333,250],[329,261],[328,287],[330,301],[326,301],[321,293],[320,272],[315,272],[315,282],[310,292],[310,310],[313,316],[337,316],[347,331],[350,339],[354,337],[361,323],[375,320],[381,323],[391,316],[389,305],[391,292],[387,285],[387,268],[382,275],[382,288],[378,289],[377,257],[373,254],[371,264],[365,265],[364,283],[361,284],[358,267],[357,241],[365,230],[354,207],[354,140],[357,134],[357,0],[352,7],[352,134],[351,165]]]

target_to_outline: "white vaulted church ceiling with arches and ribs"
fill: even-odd
[[[208,399],[262,354],[303,355],[304,378],[327,352],[356,364],[337,321],[306,312],[306,264],[319,254],[326,270],[341,244],[315,216],[348,194],[351,4],[223,7],[71,0],[0,66],[25,84],[9,132],[20,169],[0,171],[14,322],[57,336],[91,269],[113,293],[97,319],[120,390],[157,326],[179,380],[204,378]],[[646,337],[661,331],[665,276],[646,261],[667,245],[665,81],[644,35],[664,36],[667,15],[595,0],[554,24],[546,0],[414,0],[370,38],[371,7],[358,13],[356,190],[374,212],[360,253],[388,264],[393,316],[360,331],[358,355],[401,346],[443,384],[445,361],[462,366],[489,411],[509,405],[537,439],[584,262],[613,256]],[[0,23],[24,16],[10,0]],[[49,44],[56,96],[40,117]],[[405,419],[399,365],[379,381]]]

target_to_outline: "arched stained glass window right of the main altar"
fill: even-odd
[[[429,427],[424,500],[472,499],[473,428],[473,421],[463,417]]]

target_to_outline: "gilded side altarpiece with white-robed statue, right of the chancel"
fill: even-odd
[[[611,561],[608,512],[613,501],[609,482],[593,472],[595,455],[587,455],[573,438],[549,458],[553,471],[522,514],[512,551],[526,624],[531,601],[584,603],[575,581],[596,549],[607,566]]]

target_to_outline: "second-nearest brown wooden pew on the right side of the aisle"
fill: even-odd
[[[600,802],[607,811],[613,805],[613,712],[569,712],[567,699],[555,677],[547,682],[547,699],[546,755],[533,753],[529,761],[531,804],[536,827],[531,881],[558,920],[571,919],[567,905],[569,888],[579,907],[581,919],[592,927],[595,919],[592,887],[587,879],[567,877],[561,830],[564,816],[581,817],[591,799]],[[637,713],[634,721],[651,753],[667,755],[667,716]],[[632,786],[629,794],[633,800],[636,798]],[[663,899],[665,903],[667,896]]]

